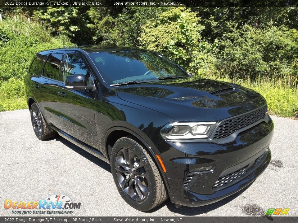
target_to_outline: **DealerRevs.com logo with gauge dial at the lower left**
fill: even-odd
[[[81,203],[74,203],[63,194],[50,195],[39,201],[4,201],[4,208],[12,209],[12,214],[72,214],[80,207]]]

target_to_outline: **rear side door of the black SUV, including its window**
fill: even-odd
[[[62,60],[64,52],[52,52],[45,58],[45,65],[39,77],[34,79],[35,99],[43,112],[47,123],[61,127],[59,101],[63,86]]]

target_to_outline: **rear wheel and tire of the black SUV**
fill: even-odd
[[[56,132],[47,125],[43,114],[36,103],[30,108],[31,123],[36,137],[40,140],[50,139],[56,136]]]

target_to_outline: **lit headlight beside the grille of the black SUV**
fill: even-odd
[[[171,122],[165,125],[160,133],[171,139],[203,139],[209,138],[216,122]]]

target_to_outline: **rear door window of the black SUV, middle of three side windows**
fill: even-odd
[[[63,81],[61,60],[63,54],[50,54],[43,69],[43,76],[57,81]]]

